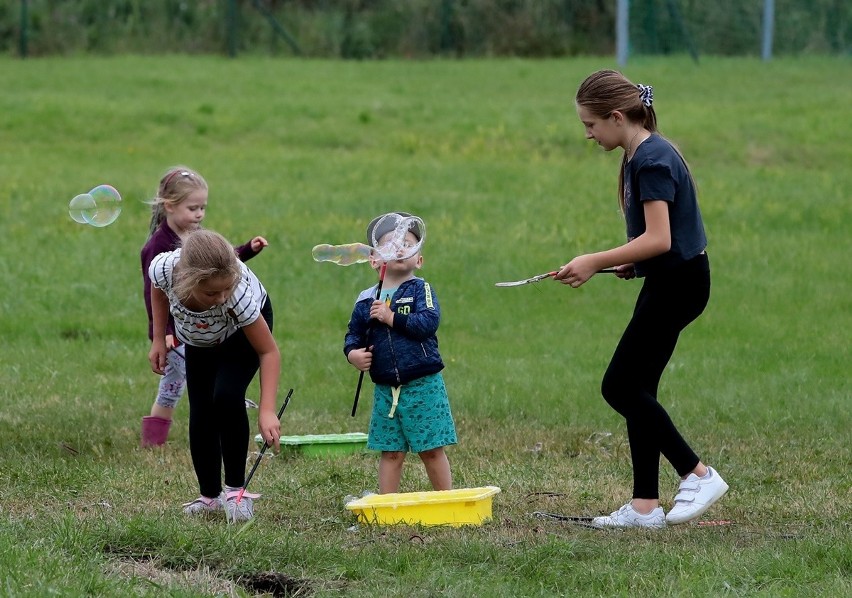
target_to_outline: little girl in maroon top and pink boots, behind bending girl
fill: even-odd
[[[151,280],[148,267],[159,254],[180,247],[181,240],[191,231],[198,229],[207,210],[207,181],[200,174],[185,166],[175,166],[166,171],[157,187],[157,195],[151,200],[151,229],[148,241],[142,247],[142,284],[145,309],[148,312],[148,338],[153,338],[153,316],[151,313]],[[235,251],[242,261],[247,261],[268,245],[263,237],[254,237]],[[151,406],[151,415],[142,418],[143,447],[164,444],[172,425],[175,405],[186,386],[186,364],[184,351],[175,339],[174,322],[169,317],[166,325],[168,359],[165,374],[160,379],[157,397]]]

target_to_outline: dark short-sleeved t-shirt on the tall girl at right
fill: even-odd
[[[707,246],[695,185],[678,152],[660,135],[651,135],[636,148],[624,167],[624,207],[627,238],[645,232],[643,201],[662,200],[669,206],[672,246],[669,251],[636,263],[636,275],[667,270],[694,258]]]

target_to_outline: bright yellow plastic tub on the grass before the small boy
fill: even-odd
[[[360,523],[379,525],[482,525],[491,520],[497,486],[431,492],[371,494],[347,503]]]

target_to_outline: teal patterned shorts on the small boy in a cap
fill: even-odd
[[[431,374],[399,388],[377,384],[367,448],[374,451],[422,453],[456,444],[456,425],[444,377]]]

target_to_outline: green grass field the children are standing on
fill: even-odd
[[[0,60],[0,595],[840,596],[852,594],[852,63],[637,60],[662,131],[690,160],[713,294],[660,400],[731,485],[732,525],[600,532],[532,516],[629,498],[623,422],[599,381],[636,281],[497,289],[621,243],[619,157],[583,138],[573,93],[607,59],[325,62]],[[286,434],[366,431],[342,355],[365,266],[311,260],[390,210],[428,227],[422,274],[443,309],[458,487],[496,485],[494,520],[358,527],[375,455],[266,459],[246,526],[181,514],[196,496],[188,404],[138,448],[147,365],[139,249],[150,197],[184,163],[210,183],[205,225],[270,291],[295,388]],[[102,229],[67,214],[109,183]],[[256,387],[253,387],[256,391]],[[541,450],[530,450],[541,443]],[[677,479],[663,467],[668,508]],[[428,489],[410,457],[403,490]]]

